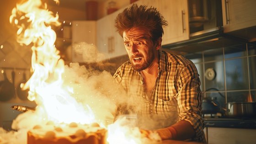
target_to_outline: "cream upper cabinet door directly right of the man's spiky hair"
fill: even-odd
[[[159,11],[168,22],[162,45],[189,39],[187,0],[159,0]]]

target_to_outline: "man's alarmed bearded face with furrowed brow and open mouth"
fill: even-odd
[[[157,53],[156,44],[151,40],[148,30],[133,27],[123,32],[123,41],[133,68],[137,71],[147,69]]]

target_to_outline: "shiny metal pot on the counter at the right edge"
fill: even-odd
[[[227,117],[256,117],[256,102],[226,103]]]

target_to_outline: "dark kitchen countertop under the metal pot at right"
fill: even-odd
[[[256,129],[256,118],[204,118],[205,127]]]

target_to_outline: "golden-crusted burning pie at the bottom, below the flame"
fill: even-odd
[[[97,123],[36,125],[27,132],[27,144],[106,144],[107,130]]]

